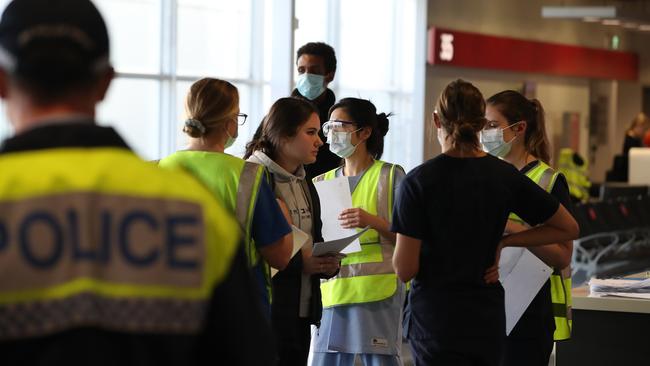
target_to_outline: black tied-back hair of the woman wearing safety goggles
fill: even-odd
[[[388,117],[391,113],[377,114],[377,108],[371,101],[359,98],[343,98],[330,108],[329,115],[334,110],[342,108],[352,119],[357,128],[370,127],[372,132],[366,140],[366,149],[373,158],[379,160],[384,153],[384,136],[388,133]],[[358,133],[358,132],[357,132]]]

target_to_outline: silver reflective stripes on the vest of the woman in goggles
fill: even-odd
[[[377,182],[377,216],[386,221],[390,221],[390,215],[392,214],[391,207],[388,207],[388,197],[389,194],[392,194],[392,172],[394,167],[393,164],[384,163],[379,172],[379,182]],[[381,234],[379,235],[381,262],[342,265],[339,274],[333,280],[336,278],[394,273],[392,261],[395,247],[390,239],[381,236]]]

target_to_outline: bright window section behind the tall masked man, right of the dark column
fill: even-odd
[[[406,169],[422,162],[423,126],[415,79],[421,2],[296,0],[296,50],[316,41],[334,47],[338,65],[330,88],[337,99],[369,99],[378,112],[393,113],[382,159]]]

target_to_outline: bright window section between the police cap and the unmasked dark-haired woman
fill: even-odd
[[[185,97],[202,77],[237,86],[249,123],[229,149],[241,155],[269,101],[264,71],[269,2],[95,0],[107,19],[118,78],[99,109],[146,159],[186,146]],[[139,126],[139,127],[136,127]]]

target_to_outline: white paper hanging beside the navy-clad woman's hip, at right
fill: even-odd
[[[505,291],[506,334],[510,334],[553,269],[524,248],[504,248],[499,259],[499,280]]]

